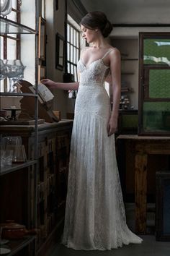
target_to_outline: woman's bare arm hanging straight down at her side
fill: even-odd
[[[108,136],[117,130],[117,119],[121,95],[121,56],[116,48],[110,53],[110,72],[112,77],[112,114],[110,116],[107,132]]]

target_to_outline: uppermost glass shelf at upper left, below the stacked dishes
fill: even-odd
[[[0,17],[1,35],[6,34],[37,34],[31,27]]]

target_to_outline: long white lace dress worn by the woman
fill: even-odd
[[[115,137],[107,136],[110,101],[104,79],[109,67],[102,59],[89,67],[81,59],[78,63],[81,80],[73,121],[63,232],[63,244],[73,249],[105,250],[142,241],[126,225]]]

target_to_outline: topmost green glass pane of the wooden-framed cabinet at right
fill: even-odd
[[[144,64],[168,64],[170,66],[170,39],[145,39],[143,44]]]

